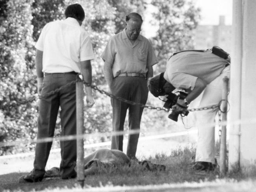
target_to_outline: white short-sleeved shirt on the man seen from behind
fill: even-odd
[[[89,35],[71,17],[46,24],[35,48],[43,51],[42,71],[47,73],[80,72],[80,60],[95,58]]]

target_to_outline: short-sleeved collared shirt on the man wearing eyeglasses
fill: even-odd
[[[139,35],[132,45],[125,30],[109,40],[101,57],[105,62],[113,64],[114,78],[121,73],[146,74],[148,66],[158,63],[148,39]]]

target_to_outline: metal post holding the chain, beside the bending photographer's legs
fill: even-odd
[[[220,149],[220,172],[221,175],[226,174],[226,121],[227,121],[227,105],[228,105],[228,78],[223,78],[223,91],[221,102],[221,149]]]

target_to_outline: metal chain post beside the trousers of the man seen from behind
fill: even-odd
[[[77,147],[77,181],[82,186],[84,184],[84,150],[83,150],[83,82],[80,81],[80,78],[76,81],[76,147]]]

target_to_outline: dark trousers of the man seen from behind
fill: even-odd
[[[52,74],[45,76],[41,95],[54,91],[76,80],[75,74]],[[76,83],[41,98],[37,121],[37,139],[53,137],[59,107],[61,107],[61,136],[76,135]],[[43,176],[52,142],[38,142],[35,147],[33,174]],[[74,175],[76,165],[76,140],[63,140],[61,147],[61,177]]]

